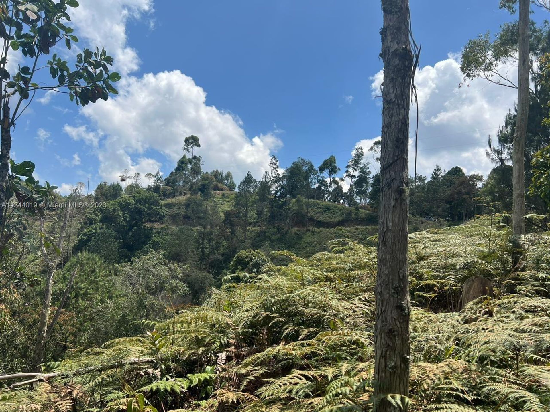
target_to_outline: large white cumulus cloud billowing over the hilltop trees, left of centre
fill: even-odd
[[[124,169],[141,174],[156,172],[161,164],[151,158],[160,152],[172,169],[183,155],[184,139],[199,136],[205,170],[220,168],[240,180],[247,171],[259,177],[267,170],[270,156],[282,146],[278,131],[248,138],[239,119],[206,104],[206,92],[179,70],[129,77],[120,94],[107,102],[83,109],[101,132],[85,126],[66,125],[74,140],[97,145],[100,175],[114,181]]]

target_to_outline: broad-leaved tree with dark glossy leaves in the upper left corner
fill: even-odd
[[[12,130],[37,92],[67,94],[83,106],[117,93],[112,82],[120,75],[110,72],[113,58],[105,49],[85,48],[76,55],[73,68],[58,53],[47,57],[60,44],[70,50],[78,42],[67,25],[69,9],[78,5],[76,0],[0,1],[0,204],[10,194]],[[15,66],[18,61],[22,63]],[[49,83],[43,70],[49,71]]]

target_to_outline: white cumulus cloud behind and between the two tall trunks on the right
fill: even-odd
[[[517,77],[511,65],[508,76]],[[372,95],[379,96],[383,71],[372,78]],[[461,166],[467,173],[487,175],[492,164],[485,157],[487,136],[496,136],[504,116],[513,109],[515,89],[476,79],[460,86],[463,74],[456,55],[417,71],[419,100],[417,171],[430,176],[438,164],[449,170]],[[411,105],[409,169],[414,174],[416,106]]]

